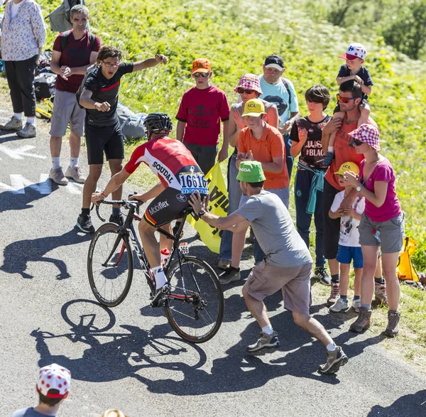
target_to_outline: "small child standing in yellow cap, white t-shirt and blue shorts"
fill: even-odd
[[[340,262],[340,282],[332,282],[332,293],[327,300],[327,305],[331,305],[329,310],[334,313],[349,310],[348,303],[348,286],[349,286],[349,269],[351,261],[354,263],[355,281],[354,281],[354,300],[352,301],[352,308],[356,312],[361,307],[361,276],[363,269],[363,257],[361,245],[359,244],[359,231],[358,225],[361,220],[361,215],[364,212],[365,199],[361,195],[357,195],[351,208],[340,207],[344,197],[351,193],[354,188],[344,179],[344,173],[351,171],[359,175],[359,166],[354,162],[342,163],[337,173],[339,178],[339,185],[344,187],[344,191],[337,193],[331,209],[329,210],[329,217],[337,219],[340,217],[340,238],[339,238],[339,251],[337,252],[336,259]],[[338,298],[340,293],[340,297]]]

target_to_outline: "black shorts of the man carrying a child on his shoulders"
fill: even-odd
[[[329,210],[332,208],[334,196],[339,190],[324,180],[324,258],[336,259],[339,250],[340,217],[332,219]]]

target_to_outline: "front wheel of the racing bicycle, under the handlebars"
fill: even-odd
[[[129,237],[119,233],[117,224],[102,224],[95,232],[87,255],[87,274],[102,305],[115,307],[126,298],[133,278],[133,253]]]

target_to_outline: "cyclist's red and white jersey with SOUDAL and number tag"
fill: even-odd
[[[199,191],[207,194],[207,181],[186,146],[168,136],[152,139],[138,146],[124,169],[133,173],[141,164],[151,168],[165,188],[171,187],[189,194]]]

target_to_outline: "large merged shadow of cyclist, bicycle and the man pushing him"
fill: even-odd
[[[240,303],[239,307],[243,305]],[[141,310],[145,315],[148,315],[148,311],[154,316],[157,313],[163,315],[161,309]],[[178,337],[169,336],[168,323],[155,325],[151,331],[133,325],[119,325],[118,332],[111,332],[109,330],[116,324],[114,313],[92,300],[72,300],[63,305],[62,318],[70,325],[70,332],[55,335],[38,329],[33,330],[31,335],[35,337],[36,349],[40,354],[40,367],[52,362],[62,364],[71,370],[73,378],[82,381],[114,381],[133,377],[156,394],[192,396],[247,391],[285,375],[315,379],[325,384],[339,384],[337,376],[323,377],[317,374],[319,364],[326,359],[324,347],[295,325],[289,311],[271,319],[273,327],[280,334],[280,350],[265,357],[246,354],[246,345],[256,340],[259,328],[246,310],[242,311],[238,315],[231,313],[231,317],[226,318],[231,321],[234,315],[237,320],[247,321],[240,335],[241,340],[226,350],[224,357],[214,359],[211,368],[204,369],[202,367],[207,362],[207,356],[202,345],[192,345]],[[341,344],[354,336],[345,333],[337,337],[336,341]],[[216,337],[223,337],[226,342],[224,332],[219,331]],[[53,354],[51,352],[55,349],[50,350],[50,341],[58,338],[61,339],[60,344],[53,345],[57,348],[60,346],[60,354]],[[372,337],[353,342],[345,350],[349,357],[354,357],[379,341],[379,337]],[[67,342],[80,342],[87,348],[82,351],[81,357],[75,358],[74,350],[67,352]],[[153,373],[146,369],[163,371]],[[155,375],[153,379],[152,375]]]

